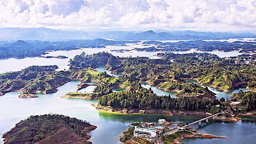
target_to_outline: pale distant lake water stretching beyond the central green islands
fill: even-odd
[[[180,40],[181,41],[181,40]],[[107,45],[106,48],[81,48],[77,50],[71,50],[71,51],[50,51],[48,54],[45,54],[44,56],[66,56],[68,58],[65,59],[59,59],[59,58],[22,58],[22,59],[15,59],[15,58],[9,58],[9,59],[1,59],[0,60],[0,73],[5,73],[9,71],[20,71],[21,69],[24,69],[29,66],[49,66],[49,65],[57,65],[59,67],[58,70],[64,70],[68,69],[68,61],[70,58],[73,58],[76,55],[80,55],[81,53],[85,52],[86,54],[93,54],[98,52],[108,52],[112,53],[113,56],[120,56],[120,57],[136,57],[136,56],[146,56],[152,59],[157,59],[157,53],[161,52],[144,52],[144,51],[134,51],[132,49],[134,48],[146,48],[149,46],[145,46],[142,44],[142,42],[139,43],[128,43],[127,46],[111,46]],[[150,46],[157,46],[157,45],[150,45]],[[116,52],[111,50],[116,49],[127,49],[131,50],[128,52]],[[205,53],[204,51],[197,51],[196,49],[191,49],[189,51],[174,51],[172,53]],[[230,51],[230,52],[223,52],[223,51],[211,51],[208,53],[216,54],[219,57],[226,57],[226,56],[238,56],[242,53],[239,53],[238,51]]]

